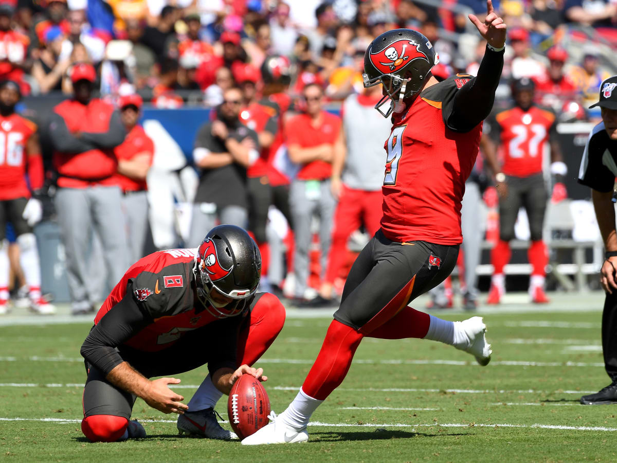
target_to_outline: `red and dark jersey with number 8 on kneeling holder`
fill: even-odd
[[[154,323],[126,341],[125,344],[132,348],[160,351],[178,341],[184,333],[218,320],[208,311],[196,312],[192,286],[196,255],[197,249],[168,249],[139,259],[107,296],[94,324],[122,300],[130,280],[135,298],[154,319]],[[201,307],[199,302],[197,304]]]

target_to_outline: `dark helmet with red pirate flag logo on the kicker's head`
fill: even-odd
[[[439,56],[433,44],[420,32],[412,29],[394,29],[384,32],[366,49],[364,54],[364,86],[381,83],[386,95],[375,105],[384,117],[393,111],[403,111],[402,100],[420,93]],[[386,112],[381,106],[390,100]]]

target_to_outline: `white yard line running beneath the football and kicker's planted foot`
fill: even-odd
[[[0,421],[38,421],[38,422],[51,422],[58,424],[78,423],[81,419],[62,419],[62,418],[6,418],[0,417]],[[176,420],[139,420],[144,423],[175,423]],[[221,421],[220,423],[226,423]],[[565,426],[565,425],[545,425],[545,424],[531,424],[531,425],[519,425],[510,423],[420,423],[420,424],[404,424],[404,423],[322,423],[320,421],[313,421],[309,423],[309,426],[318,427],[332,427],[332,428],[420,428],[420,427],[437,427],[437,428],[531,428],[531,429],[558,429],[558,430],[572,430],[572,431],[608,431],[615,432],[617,428],[608,428],[604,426]]]

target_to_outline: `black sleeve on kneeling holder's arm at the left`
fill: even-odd
[[[115,348],[153,321],[150,315],[139,309],[132,288],[130,284],[126,286],[122,301],[115,304],[94,325],[81,345],[81,355],[106,376],[123,362]]]

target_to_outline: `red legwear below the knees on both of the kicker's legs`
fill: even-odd
[[[390,320],[368,333],[369,338],[424,338],[431,318],[405,306]],[[360,341],[365,335],[337,320],[330,323],[317,360],[304,380],[302,391],[308,396],[324,400],[345,379]]]

